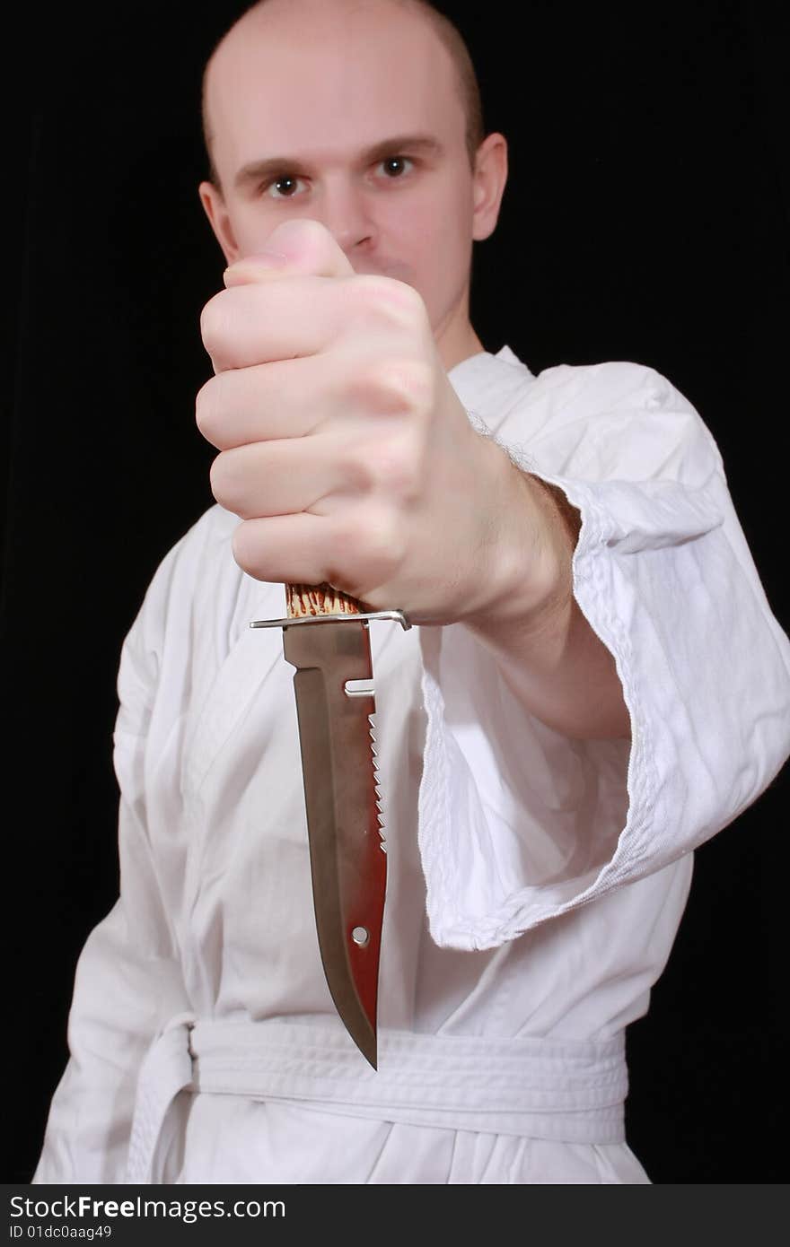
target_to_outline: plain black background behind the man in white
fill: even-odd
[[[6,1181],[35,1166],[76,956],[116,895],[120,643],[212,501],[193,397],[223,263],[196,192],[200,76],[243,7],[44,4],[6,30]],[[441,7],[510,142],[500,223],[475,258],[485,348],[507,342],[533,372],[630,359],[668,375],[721,448],[786,626],[779,6]],[[655,1182],[786,1176],[786,809],[783,774],[698,853],[669,968],[632,1028],[629,1141]]]

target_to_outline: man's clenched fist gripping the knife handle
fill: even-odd
[[[419,294],[357,276],[315,221],[267,246],[227,269],[201,322],[216,375],[197,424],[220,450],[213,495],[242,520],[240,566],[416,624],[550,592],[545,509],[469,423]]]

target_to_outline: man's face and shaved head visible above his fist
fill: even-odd
[[[456,71],[423,19],[273,0],[217,52],[207,100],[222,196],[201,196],[228,261],[308,217],[357,273],[413,286],[437,337],[467,314],[472,239],[493,224],[475,218]]]

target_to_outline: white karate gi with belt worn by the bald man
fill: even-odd
[[[533,720],[459,625],[372,626],[372,1071],[321,968],[293,670],[278,630],[247,626],[282,615],[282,586],[238,570],[237,520],[210,510],[124,648],[121,899],[80,960],[35,1181],[648,1181],[623,1137],[623,1030],[669,955],[690,850],[790,749],[790,647],[713,439],[666,380],[534,378],[507,347],[451,379],[582,511],[575,594],[633,744]]]

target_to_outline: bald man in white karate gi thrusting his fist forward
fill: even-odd
[[[36,1181],[646,1180],[623,1030],[689,850],[786,756],[788,642],[669,383],[483,350],[507,148],[464,64],[423,5],[268,0],[208,67],[221,506],[125,647],[121,900]],[[321,970],[291,668],[247,628],[283,580],[421,625],[373,638],[377,1074]]]

